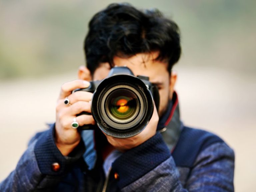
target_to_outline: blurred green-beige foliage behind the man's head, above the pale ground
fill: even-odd
[[[183,48],[179,65],[256,71],[256,1],[127,2],[138,8],[158,8],[177,22]],[[83,40],[88,22],[109,3],[1,0],[0,79],[76,70],[85,63]]]

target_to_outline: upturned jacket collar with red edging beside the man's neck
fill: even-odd
[[[173,93],[172,100],[169,101],[166,113],[160,118],[157,131],[162,133],[163,139],[170,151],[173,151],[179,140],[183,124],[180,120],[180,110],[177,93]]]

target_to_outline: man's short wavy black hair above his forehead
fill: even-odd
[[[114,56],[159,51],[157,60],[167,61],[168,70],[181,54],[177,24],[156,9],[140,11],[129,4],[110,4],[89,22],[84,42],[87,67],[94,73],[101,62],[113,65]]]

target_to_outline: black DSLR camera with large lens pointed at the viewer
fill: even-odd
[[[75,91],[93,93],[91,114],[97,126],[116,138],[139,134],[152,117],[154,102],[157,110],[159,107],[157,86],[146,76],[134,76],[128,67],[113,67],[105,79],[90,81],[88,88]],[[93,129],[93,126],[79,129]]]

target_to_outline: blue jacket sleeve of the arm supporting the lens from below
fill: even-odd
[[[125,165],[125,166],[124,166]],[[121,191],[234,191],[234,153],[225,143],[204,149],[185,182],[158,133],[124,153],[113,164]]]

